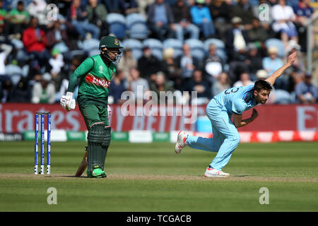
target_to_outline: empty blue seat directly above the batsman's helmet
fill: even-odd
[[[106,22],[110,25],[110,33],[119,39],[126,37],[126,18],[120,13],[109,13]]]

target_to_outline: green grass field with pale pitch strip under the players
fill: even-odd
[[[33,142],[0,142],[0,211],[318,211],[318,143],[241,143],[223,169],[231,177],[218,179],[203,176],[216,153],[120,142],[107,178],[75,178],[85,145],[52,143],[51,176],[35,176]],[[57,205],[47,204],[49,187]]]

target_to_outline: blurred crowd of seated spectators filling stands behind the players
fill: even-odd
[[[145,20],[134,27],[132,16]],[[110,103],[123,102],[125,90],[139,99],[147,90],[179,90],[197,91],[205,104],[267,78],[293,51],[298,59],[269,103],[315,103],[304,58],[312,16],[309,0],[0,0],[0,100],[59,102],[71,73],[98,54],[100,38],[116,35],[124,52]]]

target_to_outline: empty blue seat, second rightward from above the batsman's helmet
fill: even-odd
[[[126,29],[129,37],[139,40],[148,38],[148,26],[146,18],[139,13],[131,13],[126,16]]]

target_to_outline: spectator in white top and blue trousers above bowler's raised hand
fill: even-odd
[[[298,32],[293,23],[296,18],[293,8],[286,6],[285,0],[278,0],[278,4],[273,6],[271,14],[274,20],[272,28],[275,32],[281,32],[281,40],[285,47],[287,47],[289,39],[298,42]]]

